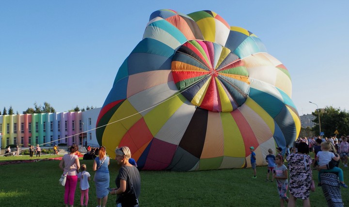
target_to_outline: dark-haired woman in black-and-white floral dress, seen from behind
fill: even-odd
[[[289,163],[289,202],[288,207],[296,207],[296,200],[303,201],[303,207],[310,207],[310,185],[312,181],[311,163],[306,143],[299,143],[297,153],[287,157]]]

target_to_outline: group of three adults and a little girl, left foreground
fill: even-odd
[[[68,148],[68,151],[69,153],[63,156],[59,164],[63,174],[67,175],[64,185],[65,207],[73,207],[78,181],[81,192],[80,205],[87,207],[91,175],[87,172],[85,164],[80,166],[79,157],[75,154],[78,151],[78,146],[72,145]],[[141,176],[135,160],[131,158],[131,151],[127,146],[116,148],[115,155],[115,160],[121,167],[115,179],[116,188],[110,188],[110,172],[108,169],[110,159],[107,156],[106,147],[101,146],[98,148],[98,157],[95,158],[92,166],[92,170],[95,171],[93,181],[95,182],[97,207],[106,206],[109,194],[117,196],[117,207],[138,207],[138,198],[141,192]]]

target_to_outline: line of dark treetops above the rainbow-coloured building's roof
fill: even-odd
[[[79,106],[77,105],[74,109],[69,110],[69,112],[71,112],[71,111],[87,111],[87,110],[95,109],[95,108],[96,107],[93,107],[93,106],[91,106],[91,107],[86,106],[86,109],[84,107],[82,109],[80,109]],[[23,114],[26,114],[26,113],[54,113],[54,112],[56,112],[56,110],[48,102],[44,102],[43,106],[38,105],[35,102],[34,107],[28,107],[28,109],[26,111],[23,111]],[[2,112],[0,111],[0,115],[12,115],[12,114],[15,114],[12,106],[10,106],[8,108],[8,110],[6,109],[6,107],[4,107]],[[19,114],[18,111],[16,111],[16,114]]]

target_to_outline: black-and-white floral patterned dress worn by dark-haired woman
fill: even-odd
[[[308,199],[312,181],[311,163],[309,155],[290,154],[287,157],[289,163],[289,192],[296,198]]]

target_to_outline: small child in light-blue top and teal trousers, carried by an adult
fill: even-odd
[[[330,152],[330,150],[333,152]],[[319,186],[321,186],[320,174],[322,172],[335,172],[338,173],[339,185],[344,188],[348,188],[348,186],[344,183],[343,170],[339,167],[333,167],[332,169],[330,169],[328,165],[331,159],[334,159],[335,161],[338,161],[340,159],[339,156],[335,156],[334,153],[337,154],[337,151],[330,141],[321,143],[321,151],[317,152],[317,157],[315,158],[318,163],[317,169],[319,170],[319,173],[317,175],[318,184]],[[323,170],[324,168],[327,170]]]

